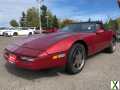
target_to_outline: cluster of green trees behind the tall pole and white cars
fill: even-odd
[[[50,28],[59,28],[64,27],[72,22],[73,20],[65,19],[62,22],[59,21],[56,15],[53,15],[47,8],[47,6],[43,5],[40,7],[41,13],[35,7],[29,8],[27,11],[22,12],[22,16],[19,20],[19,24],[21,27],[36,27],[39,28],[39,21],[41,15],[41,25],[42,29],[50,29]],[[11,24],[11,23],[10,23]],[[12,21],[12,26],[19,25],[15,20]]]

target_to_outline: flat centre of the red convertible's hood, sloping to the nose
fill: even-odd
[[[35,50],[45,50],[49,46],[55,44],[56,42],[72,36],[71,33],[66,32],[57,32],[52,34],[41,34],[30,36],[28,38],[22,39],[20,41],[15,42],[14,44],[23,47],[23,48],[30,48]]]

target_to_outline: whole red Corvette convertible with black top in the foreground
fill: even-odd
[[[101,22],[73,23],[47,35],[30,36],[5,48],[4,57],[17,67],[39,70],[66,67],[78,73],[86,57],[102,50],[113,53],[116,34],[106,30]]]

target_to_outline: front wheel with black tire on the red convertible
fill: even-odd
[[[67,57],[66,71],[69,74],[79,73],[85,65],[86,51],[84,45],[74,44]]]

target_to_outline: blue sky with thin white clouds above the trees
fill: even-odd
[[[116,0],[45,0],[43,4],[59,19],[107,21],[120,16]],[[0,26],[9,26],[11,19],[19,21],[23,11],[37,6],[36,0],[0,0]]]

